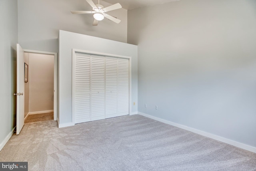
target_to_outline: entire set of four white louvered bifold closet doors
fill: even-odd
[[[73,58],[74,122],[129,115],[129,60],[76,53]]]

